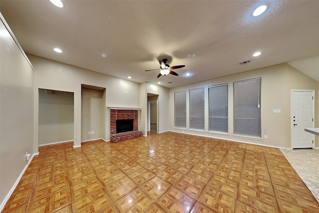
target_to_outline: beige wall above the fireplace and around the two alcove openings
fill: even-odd
[[[34,113],[35,135],[38,133],[38,88],[46,88],[58,91],[74,93],[74,146],[81,145],[81,84],[106,88],[106,136],[110,140],[110,110],[111,107],[139,107],[140,84],[101,74],[98,72],[82,69],[79,67],[59,63],[45,58],[28,55],[34,66]],[[62,57],[62,56],[61,56]],[[130,91],[124,94],[124,91]],[[38,138],[35,139],[38,143]],[[35,152],[37,152],[35,150]]]

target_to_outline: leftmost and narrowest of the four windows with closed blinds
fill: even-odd
[[[186,128],[186,91],[175,92],[175,127]]]

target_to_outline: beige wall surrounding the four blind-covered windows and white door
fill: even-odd
[[[268,139],[252,139],[238,137],[233,134],[233,82],[252,78],[262,78],[261,95],[261,120],[262,136],[268,135]],[[205,119],[205,131],[189,130],[189,89],[205,88],[205,115],[208,115],[208,86],[228,83],[228,128],[229,134],[216,134],[208,132],[208,119]],[[222,138],[226,140],[241,141],[254,144],[262,144],[274,147],[291,147],[291,90],[315,90],[318,99],[318,82],[296,70],[288,64],[279,64],[264,67],[239,74],[210,79],[198,83],[188,84],[169,89],[169,108],[174,109],[174,92],[186,90],[186,130],[174,128],[174,112],[169,111],[169,127],[171,131],[197,134],[208,137]],[[281,113],[273,113],[273,109],[281,109]],[[206,116],[207,117],[207,116]],[[315,117],[318,118],[318,101],[315,103]],[[316,119],[315,127],[318,126]],[[316,147],[319,146],[318,140]]]

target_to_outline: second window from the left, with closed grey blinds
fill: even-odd
[[[204,88],[189,90],[189,129],[204,130]]]

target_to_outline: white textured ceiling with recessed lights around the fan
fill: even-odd
[[[319,0],[62,2],[0,0],[0,11],[26,53],[139,83],[170,88],[284,62],[319,81]],[[164,56],[186,65],[179,76],[145,72]]]

